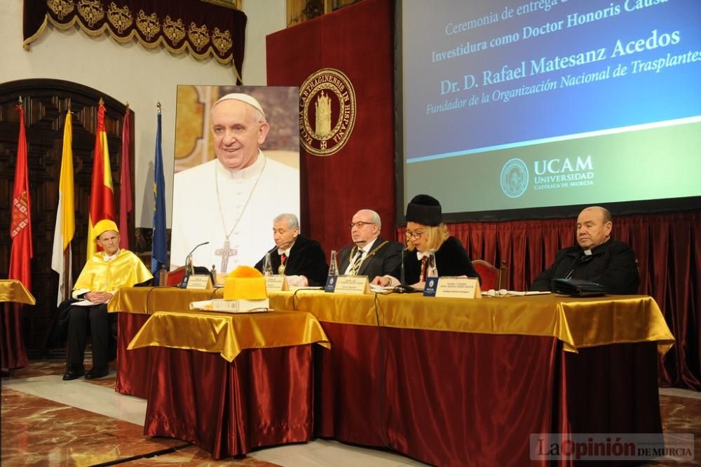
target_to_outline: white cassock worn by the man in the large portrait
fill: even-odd
[[[195,266],[211,269],[214,264],[219,273],[240,264],[253,266],[268,251],[273,218],[283,212],[299,216],[299,170],[266,158],[262,151],[250,167],[241,170],[229,170],[214,159],[178,172],[173,187],[171,267],[184,264],[195,245],[205,241],[209,244],[193,252]],[[227,234],[235,253],[223,269],[217,250],[224,246]]]

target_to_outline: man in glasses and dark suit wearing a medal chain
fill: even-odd
[[[399,275],[402,262],[402,244],[381,238],[380,215],[369,209],[355,213],[351,220],[351,238],[355,245],[348,245],[339,252],[339,273],[368,276]]]

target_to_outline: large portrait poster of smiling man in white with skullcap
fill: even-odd
[[[175,127],[171,268],[255,264],[299,215],[299,88],[178,86]]]

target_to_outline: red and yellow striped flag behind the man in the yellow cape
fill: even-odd
[[[93,228],[102,219],[116,221],[112,171],[109,167],[109,151],[107,151],[107,133],[104,131],[104,104],[100,100],[100,104],[97,106],[93,188],[90,191],[90,215],[88,217],[88,260],[97,252]]]

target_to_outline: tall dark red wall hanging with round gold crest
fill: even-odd
[[[360,209],[395,238],[393,7],[364,0],[267,36],[268,86],[299,86],[301,217],[325,251]]]

